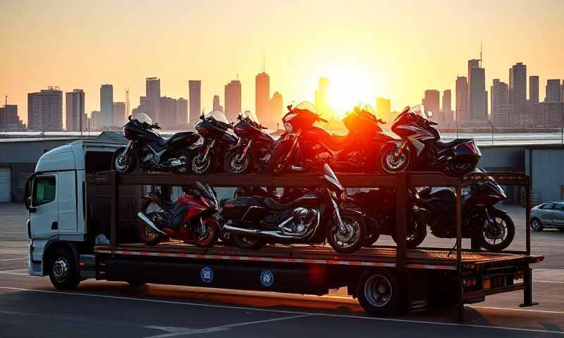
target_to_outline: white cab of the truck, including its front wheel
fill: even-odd
[[[50,275],[51,281],[63,283],[75,273],[69,267],[78,261],[88,226],[86,175],[111,170],[111,158],[120,146],[120,142],[81,140],[39,158],[35,173],[25,181],[30,275]]]

